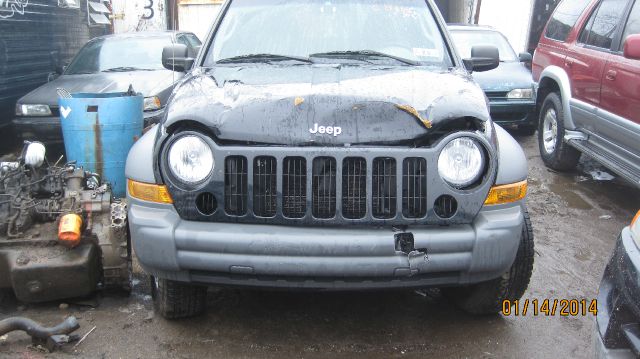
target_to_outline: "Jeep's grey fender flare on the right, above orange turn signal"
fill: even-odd
[[[527,179],[529,167],[522,147],[502,127],[494,124],[498,139],[498,176],[496,185],[511,184]]]

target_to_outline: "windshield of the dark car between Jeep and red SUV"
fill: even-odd
[[[471,57],[471,48],[478,45],[490,45],[498,48],[500,61],[518,61],[515,51],[501,33],[497,31],[451,31],[453,42],[463,59]]]

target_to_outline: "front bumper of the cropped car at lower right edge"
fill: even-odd
[[[640,355],[640,250],[625,228],[598,292],[595,349],[598,358]]]

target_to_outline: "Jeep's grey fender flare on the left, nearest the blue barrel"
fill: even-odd
[[[133,144],[124,170],[127,178],[138,182],[156,183],[153,172],[153,147],[157,133],[158,125],[155,125]]]

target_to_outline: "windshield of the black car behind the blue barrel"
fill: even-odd
[[[80,50],[65,75],[161,70],[166,45],[171,45],[170,36],[97,39]]]

